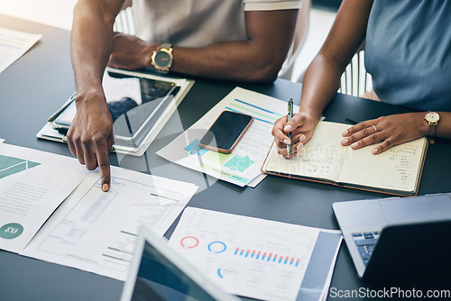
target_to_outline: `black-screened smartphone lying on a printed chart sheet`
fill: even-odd
[[[217,117],[216,122],[198,142],[198,145],[207,150],[231,153],[252,123],[253,116],[224,111]]]

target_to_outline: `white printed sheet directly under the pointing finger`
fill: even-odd
[[[187,205],[195,185],[112,167],[110,191],[91,173],[23,255],[124,280],[141,223],[158,235]]]

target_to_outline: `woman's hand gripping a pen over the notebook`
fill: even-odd
[[[310,140],[313,130],[317,125],[317,120],[308,114],[295,114],[287,122],[287,116],[279,118],[272,128],[272,136],[276,142],[277,152],[285,159],[296,156],[304,144]],[[287,136],[287,132],[292,132],[292,141]],[[293,143],[291,153],[287,152],[287,144]]]

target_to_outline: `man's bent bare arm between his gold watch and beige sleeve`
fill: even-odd
[[[172,70],[207,78],[272,82],[290,49],[298,10],[245,12],[246,41],[174,48]]]

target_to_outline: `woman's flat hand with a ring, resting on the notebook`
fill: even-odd
[[[379,154],[394,145],[426,136],[428,123],[424,120],[425,114],[395,114],[355,124],[343,133],[345,139],[341,143],[358,150],[382,141],[371,150],[374,155]]]

